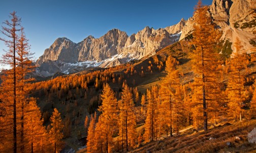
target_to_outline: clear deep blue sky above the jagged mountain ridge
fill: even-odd
[[[154,29],[176,24],[193,15],[198,0],[0,0],[0,22],[16,11],[38,58],[58,37],[78,43],[118,28],[128,35],[145,26]],[[210,5],[212,0],[203,0]],[[3,36],[3,35],[0,35]],[[0,54],[4,49],[0,42]]]

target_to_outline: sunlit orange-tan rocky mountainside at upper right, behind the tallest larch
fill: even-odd
[[[252,52],[256,33],[256,3],[253,0],[213,0],[209,6],[213,22],[223,31],[222,40],[241,40],[244,51]],[[195,22],[189,18],[182,29],[180,40],[193,33]],[[250,43],[251,42],[251,43]],[[232,49],[235,50],[232,45]]]

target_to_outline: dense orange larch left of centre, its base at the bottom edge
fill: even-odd
[[[108,84],[104,85],[102,92],[102,105],[99,107],[99,110],[102,112],[102,126],[104,127],[103,141],[106,146],[105,151],[109,152],[113,146],[112,135],[117,129],[117,99],[115,97],[115,93]]]

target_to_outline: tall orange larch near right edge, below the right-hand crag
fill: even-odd
[[[245,75],[242,73],[242,70],[247,67],[245,61],[245,54],[241,53],[241,42],[237,38],[234,43],[236,52],[234,57],[230,60],[230,71],[229,71],[229,82],[228,82],[228,106],[230,114],[237,121],[239,116],[240,121],[242,121],[242,102],[245,100]]]

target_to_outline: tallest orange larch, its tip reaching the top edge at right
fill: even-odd
[[[207,103],[209,99],[213,98],[209,92],[215,89],[215,75],[218,72],[217,67],[219,64],[217,48],[221,34],[215,29],[215,25],[208,12],[208,7],[203,6],[200,0],[195,9],[194,19],[196,24],[194,25],[195,30],[191,44],[194,45],[195,50],[191,54],[191,59],[196,76],[194,85],[196,85],[196,90],[198,91],[193,96],[203,107],[202,114],[204,130],[206,131],[208,125]]]

